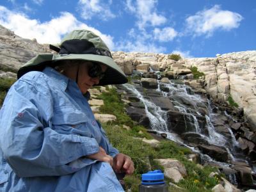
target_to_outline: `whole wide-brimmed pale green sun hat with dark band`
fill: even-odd
[[[102,39],[88,30],[75,30],[66,35],[60,45],[50,45],[58,54],[38,54],[23,65],[17,74],[18,79],[29,71],[43,70],[46,66],[55,67],[56,61],[84,60],[106,65],[105,76],[97,85],[124,84],[127,78],[115,63],[107,45]]]

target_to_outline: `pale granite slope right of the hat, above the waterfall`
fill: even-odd
[[[195,66],[204,72],[199,79],[204,89],[216,102],[227,103],[231,96],[240,108],[248,123],[256,131],[256,51],[232,52],[216,58],[184,58],[169,60],[166,54],[141,52],[113,52],[113,58],[129,75],[137,69],[170,72],[173,76],[189,74],[188,68]],[[193,86],[195,82],[192,82]]]

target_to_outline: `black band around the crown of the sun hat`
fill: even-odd
[[[61,44],[59,54],[96,54],[112,58],[110,51],[96,48],[92,42],[85,39],[66,40]]]

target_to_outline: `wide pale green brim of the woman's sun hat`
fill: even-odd
[[[100,79],[100,83],[97,84],[99,86],[106,84],[124,84],[128,81],[124,72],[116,65],[112,58],[95,54],[39,54],[19,69],[17,77],[19,79],[22,75],[32,70],[42,71],[45,66],[54,67],[55,62],[52,61],[61,60],[85,60],[106,65],[108,68],[105,72],[105,76]]]

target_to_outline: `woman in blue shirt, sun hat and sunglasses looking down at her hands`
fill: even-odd
[[[127,79],[91,31],[65,36],[18,72],[0,112],[0,191],[123,191],[115,172],[134,171],[88,104],[93,85]],[[115,170],[115,172],[113,171]]]

